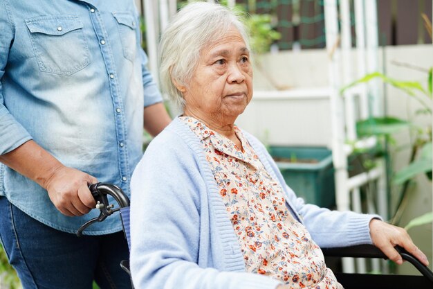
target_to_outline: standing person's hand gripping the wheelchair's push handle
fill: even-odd
[[[51,202],[64,215],[82,216],[95,207],[89,184],[98,182],[95,177],[75,168],[61,166],[45,182]]]

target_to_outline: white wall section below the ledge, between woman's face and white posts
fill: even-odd
[[[266,92],[262,94],[265,97],[253,96],[246,111],[237,119],[237,125],[264,143],[330,147],[331,117],[327,96],[267,99]]]

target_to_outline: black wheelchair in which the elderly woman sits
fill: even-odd
[[[123,231],[127,238],[128,246],[131,241],[129,238],[129,198],[125,193],[113,184],[97,183],[91,184],[89,189],[95,198],[96,209],[100,210],[100,215],[84,223],[77,230],[77,236],[82,235],[82,231],[94,222],[102,222],[108,216],[120,211]],[[117,206],[109,204],[108,196],[117,202]],[[321,248],[325,257],[353,257],[353,258],[379,258],[387,259],[374,245],[356,245],[351,247]],[[334,272],[337,280],[345,289],[410,289],[410,288],[433,288],[433,272],[423,265],[412,254],[401,247],[396,247],[402,259],[408,261],[421,273],[421,275],[395,275],[395,274],[358,274]],[[120,267],[131,276],[129,271],[129,260],[120,262]],[[131,281],[131,288],[132,281]]]

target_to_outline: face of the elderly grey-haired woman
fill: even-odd
[[[185,114],[209,124],[232,124],[252,97],[250,51],[237,29],[206,46],[184,88]]]

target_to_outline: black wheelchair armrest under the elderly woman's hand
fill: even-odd
[[[407,252],[402,247],[396,246],[403,260],[408,261],[421,272],[427,279],[433,283],[433,272],[427,266],[423,265],[414,255]],[[353,258],[382,258],[388,259],[378,247],[374,245],[356,245],[351,247],[322,248],[324,256],[333,257],[353,257]]]

